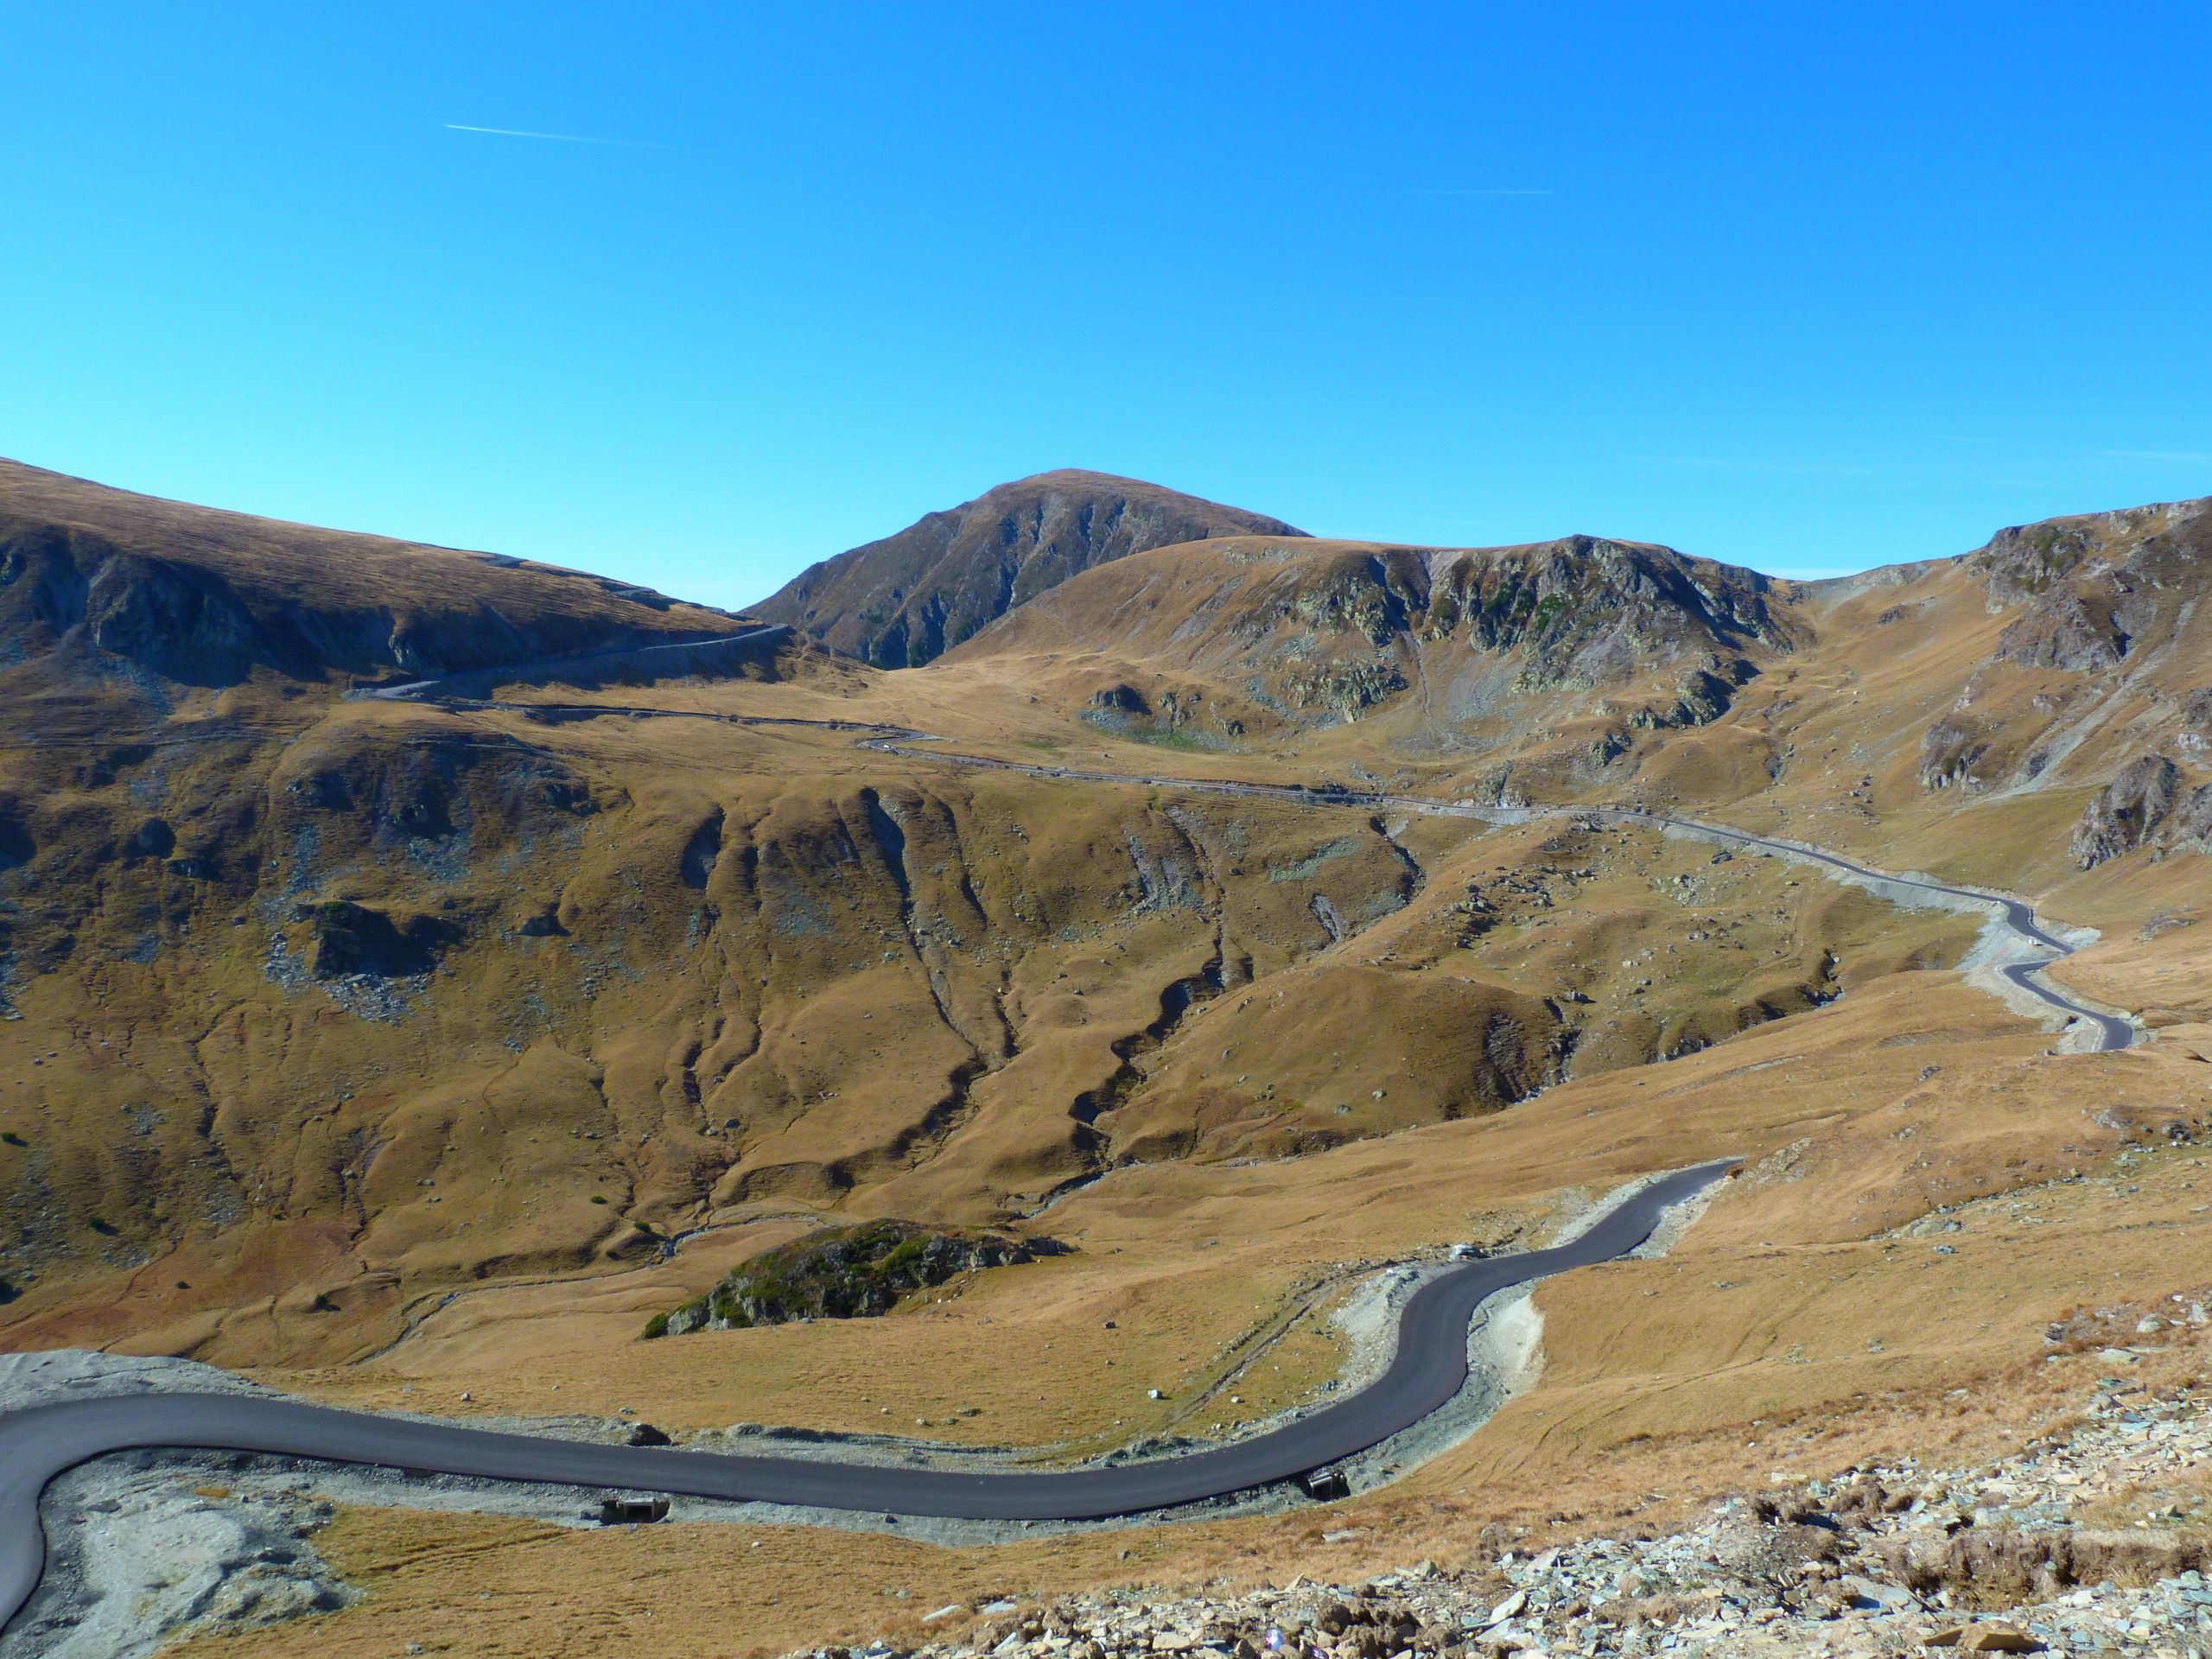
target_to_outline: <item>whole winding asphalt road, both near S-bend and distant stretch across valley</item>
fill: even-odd
[[[456,697],[438,681],[378,688],[372,695],[449,701],[456,708],[504,708]],[[568,710],[560,712],[566,714]],[[670,710],[577,706],[573,712],[668,714]],[[1272,799],[1307,807],[1400,810],[1489,823],[1531,816],[1531,812],[1597,816],[1613,823],[1672,827],[1728,845],[1741,845],[1750,852],[1801,858],[1827,865],[1845,876],[1989,909],[2017,938],[2017,951],[2031,953],[2024,960],[2000,967],[2006,980],[2055,1011],[2088,1022],[2097,1031],[2099,1048],[2126,1048],[2135,1040],[2135,1026],[2128,1020],[2090,1009],[2037,978],[2048,962],[2068,956],[2073,947],[2037,925],[2031,902],[2011,894],[1951,887],[1916,876],[1891,876],[1820,847],[1756,836],[1745,830],[1699,823],[1694,818],[1670,818],[1641,807],[1502,810],[1464,801],[1343,787],[1314,790],[1287,783],[1237,783],[1228,779],[1144,776],[1029,765],[1022,761],[958,754],[942,748],[920,748],[920,743],[931,743],[931,739],[925,732],[894,728],[874,728],[874,734],[863,739],[865,748],[883,752],[1046,779]],[[2044,956],[2046,951],[2048,956]],[[1486,1256],[1449,1267],[1407,1301],[1389,1369],[1369,1387],[1250,1440],[1172,1458],[1091,1464],[1068,1471],[962,1473],[814,1458],[761,1458],[549,1440],[239,1394],[111,1396],[62,1400],[0,1413],[0,1628],[13,1621],[44,1575],[46,1540],[38,1504],[46,1484],[62,1471],[91,1458],[133,1449],[243,1451],[480,1480],[617,1486],[684,1498],[958,1520],[1102,1520],[1141,1515],[1296,1480],[1389,1440],[1394,1433],[1413,1427],[1449,1402],[1467,1383],[1469,1321],[1475,1307],[1489,1296],[1573,1267],[1590,1267],[1626,1256],[1652,1234],[1670,1206],[1712,1186],[1730,1166],[1732,1161],[1721,1161],[1666,1175],[1632,1194],[1571,1243],[1511,1256]]]

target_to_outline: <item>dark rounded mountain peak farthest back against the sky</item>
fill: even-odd
[[[823,560],[759,613],[878,668],[918,668],[1093,564],[1214,535],[1303,531],[1133,478],[1037,473]]]

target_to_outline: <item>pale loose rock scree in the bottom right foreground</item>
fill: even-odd
[[[2112,1369],[2132,1363],[2112,1349]],[[916,1659],[1486,1655],[2212,1655],[2212,1396],[2099,1385],[2075,1431],[1975,1469],[1916,1462],[1717,1504],[1688,1531],[1356,1586],[993,1601]],[[2121,1506],[2132,1513],[2119,1515]],[[2093,1520],[2126,1520],[2124,1531]],[[931,1619],[969,1615],[942,1608]],[[894,1652],[874,1646],[865,1652]],[[836,1659],[836,1650],[830,1650]]]

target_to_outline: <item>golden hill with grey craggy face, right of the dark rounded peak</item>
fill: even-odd
[[[1425,684],[1447,688],[1431,701],[1451,719],[1540,719],[1557,692],[1604,688],[1648,701],[1644,728],[1697,726],[1792,648],[1770,599],[1754,571],[1597,535],[1500,549],[1214,538],[1091,571],[956,661],[1128,653],[1164,677],[1206,677],[1210,692],[1159,692],[1183,706],[1159,723],[1183,732],[1203,703],[1221,739],[1256,721],[1367,719]],[[1650,699],[1630,695],[1639,681]],[[1130,684],[1099,697],[1106,730],[1139,726],[1130,699],[1150,701]]]

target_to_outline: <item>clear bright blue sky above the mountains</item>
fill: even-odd
[[[714,604],[1071,465],[1787,573],[2212,491],[2201,0],[7,0],[0,62],[0,453]]]

